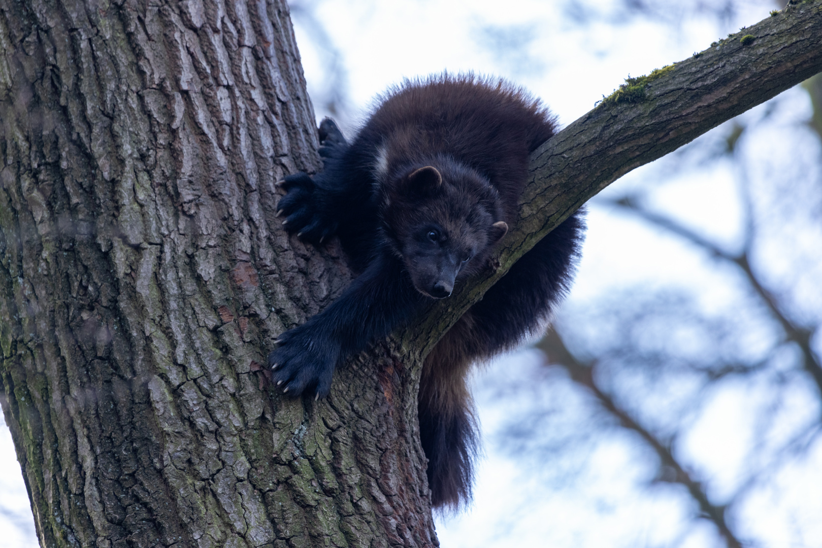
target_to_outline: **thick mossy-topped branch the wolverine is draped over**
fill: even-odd
[[[433,303],[404,334],[406,351],[424,356],[520,256],[617,178],[822,71],[822,1],[789,6],[714,44],[632,79],[630,94],[603,100],[534,151],[499,269]]]

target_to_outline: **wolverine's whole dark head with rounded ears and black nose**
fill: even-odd
[[[441,299],[477,272],[508,231],[485,177],[450,159],[411,167],[386,185],[381,222],[414,288]]]

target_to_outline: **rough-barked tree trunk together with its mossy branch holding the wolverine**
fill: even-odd
[[[534,154],[500,269],[314,403],[258,365],[350,279],[274,219],[320,165],[288,8],[146,3],[0,5],[2,407],[41,546],[436,545],[427,349],[608,183],[822,70],[817,0],[603,102]]]

